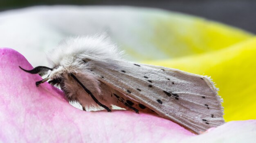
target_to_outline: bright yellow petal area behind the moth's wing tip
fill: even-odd
[[[211,76],[224,100],[225,121],[256,119],[256,38],[204,54],[144,63]]]

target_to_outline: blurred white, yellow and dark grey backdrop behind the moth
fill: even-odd
[[[129,61],[211,76],[225,121],[255,119],[255,15],[256,0],[0,0],[0,47],[50,66],[62,39],[106,32]]]

